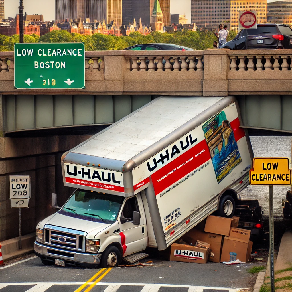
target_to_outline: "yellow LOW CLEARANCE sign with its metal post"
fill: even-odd
[[[254,158],[253,168],[249,171],[249,183],[250,185],[269,186],[270,279],[271,292],[275,292],[273,185],[291,185],[291,170],[289,169],[289,159],[286,157]]]

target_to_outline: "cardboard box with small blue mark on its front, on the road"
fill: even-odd
[[[244,241],[232,237],[225,237],[221,252],[221,262],[240,260],[247,263],[251,254],[252,241]]]

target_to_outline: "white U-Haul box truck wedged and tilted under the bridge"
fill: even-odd
[[[160,97],[64,153],[64,184],[77,189],[37,225],[36,255],[112,267],[216,210],[231,217],[253,158],[240,120],[232,96]]]

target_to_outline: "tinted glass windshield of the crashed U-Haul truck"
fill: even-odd
[[[115,221],[123,200],[120,196],[77,190],[62,209],[102,221]]]

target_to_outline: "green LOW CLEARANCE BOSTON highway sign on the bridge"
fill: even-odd
[[[85,88],[84,44],[15,44],[14,87]]]

